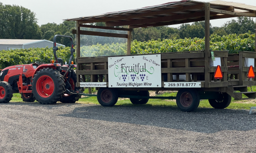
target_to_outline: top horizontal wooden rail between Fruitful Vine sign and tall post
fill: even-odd
[[[204,58],[204,52],[199,53],[178,53],[178,54],[164,54],[161,59],[186,59],[186,58]]]

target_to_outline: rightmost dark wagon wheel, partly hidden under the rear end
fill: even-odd
[[[220,98],[218,99],[208,99],[210,106],[215,109],[224,109],[231,103],[231,96],[226,92],[220,92]]]

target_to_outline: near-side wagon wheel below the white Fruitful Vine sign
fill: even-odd
[[[97,93],[99,104],[104,107],[111,107],[117,103],[118,92],[113,88],[100,88]]]

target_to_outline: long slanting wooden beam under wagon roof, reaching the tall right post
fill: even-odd
[[[165,22],[178,20],[183,18],[191,18],[191,17],[203,17],[204,12],[195,12],[189,14],[179,14],[172,16],[163,16],[163,17],[154,17],[154,18],[146,18],[140,20],[128,20],[128,21],[117,21],[117,22],[106,22],[108,27],[120,26],[120,25],[134,25],[134,24],[145,24],[145,23],[156,23],[156,22]]]

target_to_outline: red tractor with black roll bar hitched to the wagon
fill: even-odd
[[[67,37],[71,40],[71,56],[68,65],[63,65],[57,58],[56,37]],[[70,36],[55,35],[53,53],[55,62],[9,66],[0,73],[0,103],[9,103],[13,93],[20,93],[23,101],[40,104],[75,103],[80,98],[82,88],[76,87],[76,73],[73,59],[73,39]]]

